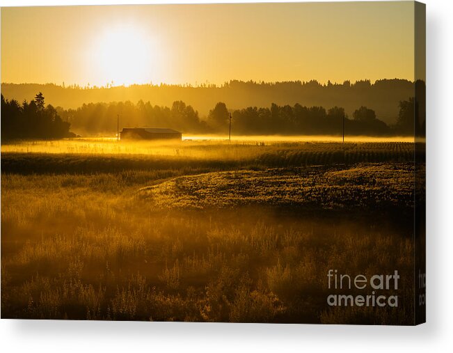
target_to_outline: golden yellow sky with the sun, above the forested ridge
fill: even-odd
[[[412,1],[1,8],[1,82],[414,77]]]

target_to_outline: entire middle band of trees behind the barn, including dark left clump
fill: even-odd
[[[115,134],[117,117],[122,127],[169,127],[184,134],[226,134],[229,118],[232,117],[232,132],[237,135],[368,135],[410,136],[414,128],[418,135],[424,134],[424,118],[419,115],[418,102],[413,97],[399,102],[399,113],[395,124],[388,125],[376,117],[376,112],[367,107],[358,107],[352,116],[347,116],[342,107],[294,106],[270,108],[247,107],[231,110],[225,103],[218,102],[206,118],[182,101],[173,102],[171,107],[159,107],[150,102],[111,102],[83,104],[78,109],[54,108],[45,105],[44,96],[38,93],[35,100],[19,104],[16,100],[5,100],[1,96],[1,136],[3,139],[58,139],[77,134],[95,136]],[[73,132],[69,132],[69,129]]]

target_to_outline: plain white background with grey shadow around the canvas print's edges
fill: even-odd
[[[0,0],[0,6],[164,2],[213,1]],[[453,1],[424,2],[427,3],[427,324],[419,327],[360,327],[1,320],[0,345],[3,352],[453,352],[453,168],[450,142],[453,131]]]

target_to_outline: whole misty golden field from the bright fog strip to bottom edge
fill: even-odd
[[[412,322],[413,143],[1,150],[2,318]],[[328,269],[395,268],[397,310],[326,305]]]

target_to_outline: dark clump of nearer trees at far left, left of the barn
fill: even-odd
[[[45,105],[44,95],[19,104],[1,95],[1,139],[61,139],[72,137],[70,123],[58,116],[54,107]]]

